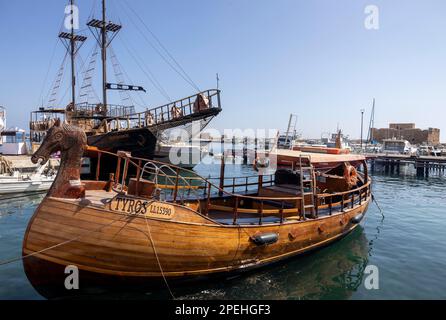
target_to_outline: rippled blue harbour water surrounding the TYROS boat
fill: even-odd
[[[219,166],[198,165],[203,176]],[[227,166],[227,176],[252,173]],[[446,299],[446,178],[372,173],[367,218],[347,237],[323,249],[230,279],[171,286],[177,299]],[[0,202],[0,263],[20,257],[26,226],[43,195]],[[383,216],[384,215],[384,216]],[[367,266],[379,288],[367,289]],[[80,279],[80,286],[82,280]],[[89,299],[166,299],[166,288],[85,292]],[[28,282],[20,260],[0,265],[0,299],[44,299]],[[63,297],[61,297],[63,298]]]

